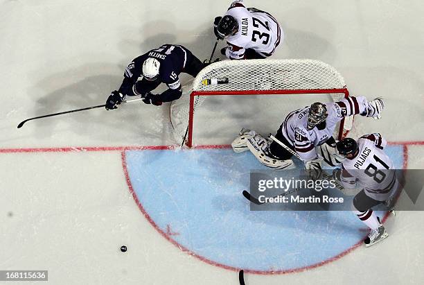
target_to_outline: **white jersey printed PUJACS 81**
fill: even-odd
[[[375,200],[386,200],[397,187],[393,162],[383,150],[387,141],[378,133],[357,140],[358,155],[342,164],[342,184],[346,188],[362,187]]]

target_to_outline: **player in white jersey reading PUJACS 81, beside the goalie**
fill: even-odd
[[[333,171],[333,176],[347,189],[362,187],[353,198],[352,207],[357,217],[371,229],[364,241],[367,247],[388,236],[371,208],[384,203],[390,209],[399,188],[393,162],[384,151],[386,144],[378,133],[364,135],[357,141],[346,138],[337,142],[337,152],[346,160],[342,169]]]

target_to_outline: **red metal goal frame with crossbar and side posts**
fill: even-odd
[[[195,96],[246,96],[246,95],[291,95],[291,94],[344,94],[348,98],[349,92],[346,87],[332,89],[270,89],[270,90],[215,90],[215,91],[193,91],[190,94],[190,109],[188,112],[188,133],[186,146],[193,146],[193,121],[195,111]],[[344,135],[344,118],[340,121],[339,136],[342,139]]]

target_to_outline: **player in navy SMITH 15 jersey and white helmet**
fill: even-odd
[[[177,100],[182,96],[179,74],[184,72],[195,77],[203,67],[204,64],[184,46],[164,44],[152,49],[127,66],[121,87],[107,98],[106,110],[116,109],[126,96],[141,96],[144,103],[158,106]],[[161,83],[168,89],[152,94]]]

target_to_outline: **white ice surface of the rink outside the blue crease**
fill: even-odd
[[[165,42],[209,58],[211,22],[228,4],[0,1],[0,150],[175,144],[168,109],[138,103],[16,126],[30,116],[103,104],[126,64]],[[344,76],[351,94],[386,98],[383,119],[359,118],[360,132],[424,141],[421,1],[247,6],[281,22],[286,37],[276,58],[322,60]],[[209,142],[229,141],[218,132]],[[409,146],[409,167],[423,169],[423,154],[423,146]],[[204,264],[159,236],[127,191],[118,152],[0,153],[0,166],[0,269],[46,268],[52,284],[237,284],[236,273]],[[402,212],[387,224],[390,238],[376,247],[303,273],[249,275],[247,284],[420,284],[423,220],[421,212]],[[127,254],[118,251],[121,244],[129,246]]]

